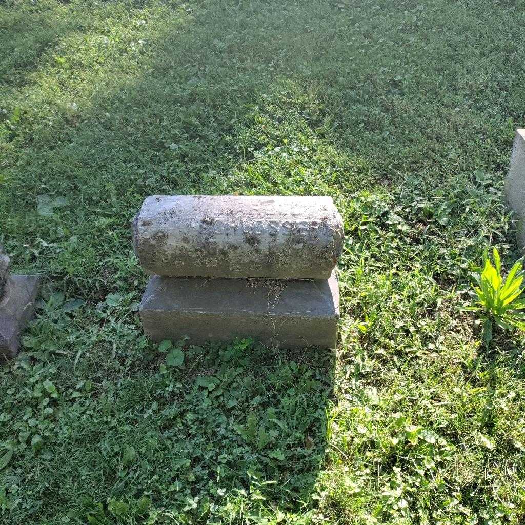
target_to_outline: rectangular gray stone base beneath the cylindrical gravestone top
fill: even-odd
[[[334,274],[312,281],[153,276],[139,311],[154,341],[247,336],[272,347],[335,348],[339,286]]]

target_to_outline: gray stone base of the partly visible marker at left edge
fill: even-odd
[[[10,275],[0,298],[0,361],[18,353],[20,335],[33,317],[38,293],[35,275]]]

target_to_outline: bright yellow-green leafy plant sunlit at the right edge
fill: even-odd
[[[496,248],[492,249],[494,264],[485,251],[484,267],[472,274],[477,286],[474,288],[475,304],[466,310],[480,312],[483,323],[483,340],[488,347],[492,340],[492,323],[505,330],[518,328],[525,330],[525,300],[520,299],[525,271],[523,259],[518,260],[509,271],[506,279],[501,276],[501,259]]]

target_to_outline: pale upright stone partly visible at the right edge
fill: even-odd
[[[525,254],[525,129],[516,131],[510,159],[510,169],[505,179],[505,193],[514,212],[518,247]]]

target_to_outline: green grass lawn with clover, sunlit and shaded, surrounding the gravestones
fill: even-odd
[[[519,257],[524,39],[519,0],[4,0],[0,242],[44,279],[0,523],[522,523],[524,335],[461,307]],[[166,366],[130,224],[176,193],[333,196],[337,352]]]

